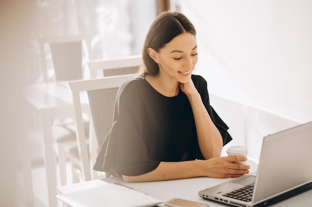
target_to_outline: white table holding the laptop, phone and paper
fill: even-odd
[[[255,162],[248,161],[248,164],[251,165],[251,172],[257,170],[257,164]],[[201,177],[160,182],[125,183],[121,177],[110,177],[102,180],[93,180],[83,183],[61,186],[57,189],[58,194],[63,194],[105,185],[106,183],[120,183],[137,191],[153,196],[163,202],[169,201],[173,198],[181,198],[201,203],[207,203],[210,205],[210,207],[227,207],[226,205],[219,204],[210,200],[205,200],[199,197],[198,191],[214,185],[218,185],[230,179],[231,178],[217,179]],[[312,190],[282,201],[278,204],[273,205],[272,207],[311,207],[311,204]],[[158,206],[163,206],[163,204],[160,204]]]

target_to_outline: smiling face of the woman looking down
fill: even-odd
[[[160,76],[180,83],[190,81],[198,61],[195,36],[191,33],[176,36],[156,53],[155,61]]]

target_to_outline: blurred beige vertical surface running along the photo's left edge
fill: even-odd
[[[34,1],[0,1],[0,206],[32,201],[25,100]]]

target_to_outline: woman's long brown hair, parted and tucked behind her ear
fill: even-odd
[[[174,37],[189,32],[196,36],[196,30],[188,18],[179,12],[164,11],[152,23],[145,38],[142,58],[143,65],[139,73],[156,75],[159,71],[157,63],[150,57],[148,48],[159,52],[161,48],[170,42]]]

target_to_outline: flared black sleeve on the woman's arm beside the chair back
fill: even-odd
[[[138,97],[135,85],[121,87],[115,106],[114,125],[106,137],[94,169],[112,175],[137,176],[153,171],[160,161],[149,158],[138,124]]]

